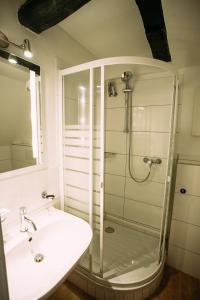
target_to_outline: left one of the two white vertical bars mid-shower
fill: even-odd
[[[94,132],[94,70],[90,68],[89,101],[89,224],[93,231],[93,132]],[[92,272],[92,243],[89,247],[89,270]]]

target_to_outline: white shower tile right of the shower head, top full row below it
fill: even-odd
[[[165,105],[173,100],[173,77],[138,80],[134,84],[133,105]]]

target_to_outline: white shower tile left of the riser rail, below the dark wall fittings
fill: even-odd
[[[108,108],[105,110],[106,130],[123,131],[124,108]]]

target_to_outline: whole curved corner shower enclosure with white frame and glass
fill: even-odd
[[[118,57],[59,76],[62,205],[93,229],[77,268],[112,288],[142,286],[166,256],[176,73]]]

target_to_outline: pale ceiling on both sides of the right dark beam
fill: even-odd
[[[163,0],[172,61],[200,64],[200,1]],[[152,57],[135,0],[91,0],[59,23],[94,57]]]

